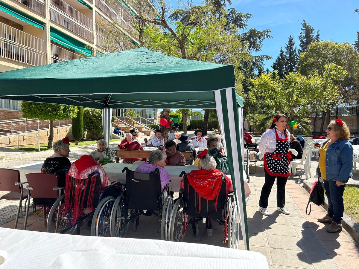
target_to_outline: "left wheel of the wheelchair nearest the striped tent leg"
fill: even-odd
[[[178,199],[172,209],[171,218],[169,221],[169,240],[178,242],[182,241],[181,233],[183,231],[183,221],[185,219],[185,211],[181,199]]]

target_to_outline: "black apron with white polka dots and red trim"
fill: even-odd
[[[277,145],[274,152],[266,152],[264,155],[264,168],[271,176],[290,176],[289,159],[292,158],[290,156],[292,152],[288,152],[290,146],[288,137],[279,138],[278,131],[275,129],[275,140]]]

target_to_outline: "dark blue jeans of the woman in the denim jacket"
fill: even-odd
[[[332,217],[333,221],[341,224],[341,218],[344,214],[344,186],[335,185],[336,180],[324,180],[325,194],[328,198],[328,217]]]

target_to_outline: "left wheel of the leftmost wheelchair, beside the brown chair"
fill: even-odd
[[[59,209],[60,208],[60,209]],[[52,205],[48,213],[46,228],[47,232],[74,234],[76,232],[77,223],[71,218],[71,211],[65,211],[65,194],[61,195]],[[52,222],[56,220],[56,222]]]

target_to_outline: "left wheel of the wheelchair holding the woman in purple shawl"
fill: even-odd
[[[129,230],[129,221],[127,218],[128,210],[125,206],[125,199],[121,194],[116,198],[111,212],[111,236],[125,237]]]

